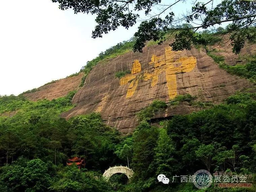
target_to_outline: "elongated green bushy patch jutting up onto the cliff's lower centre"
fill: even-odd
[[[166,103],[164,101],[160,100],[154,100],[148,107],[140,110],[136,116],[141,121],[147,121],[150,120],[152,117],[154,117],[155,113],[157,111],[164,110],[167,107]]]

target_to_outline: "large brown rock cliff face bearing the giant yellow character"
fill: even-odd
[[[62,117],[98,111],[106,124],[129,133],[138,124],[136,112],[155,99],[168,102],[176,95],[189,93],[200,101],[220,103],[234,92],[251,87],[246,79],[220,69],[202,49],[172,52],[167,44],[146,47],[142,54],[127,53],[97,64],[73,98],[76,107]],[[250,53],[254,51],[252,45]],[[231,48],[224,52],[228,59]],[[123,70],[131,73],[121,79],[115,77],[116,72]],[[168,107],[157,116],[169,117],[194,110],[199,108],[181,104]]]

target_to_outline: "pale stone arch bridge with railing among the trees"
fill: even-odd
[[[105,177],[106,179],[109,179],[113,174],[116,174],[116,173],[124,173],[130,180],[133,175],[133,170],[131,168],[128,168],[127,166],[122,166],[122,165],[109,167],[103,173],[103,177]]]

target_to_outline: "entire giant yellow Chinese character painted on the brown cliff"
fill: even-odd
[[[165,54],[161,56],[152,55],[150,65],[154,64],[152,72],[146,71],[143,75],[144,80],[152,79],[151,86],[155,86],[158,82],[158,75],[165,72],[169,97],[173,98],[177,95],[176,74],[190,72],[196,65],[196,58],[192,56],[181,57],[173,61],[173,57],[179,52],[173,52],[170,46],[165,47]],[[120,79],[120,85],[131,82],[127,90],[126,98],[131,97],[137,86],[141,72],[141,65],[138,60],[134,60],[131,74],[125,75]]]

